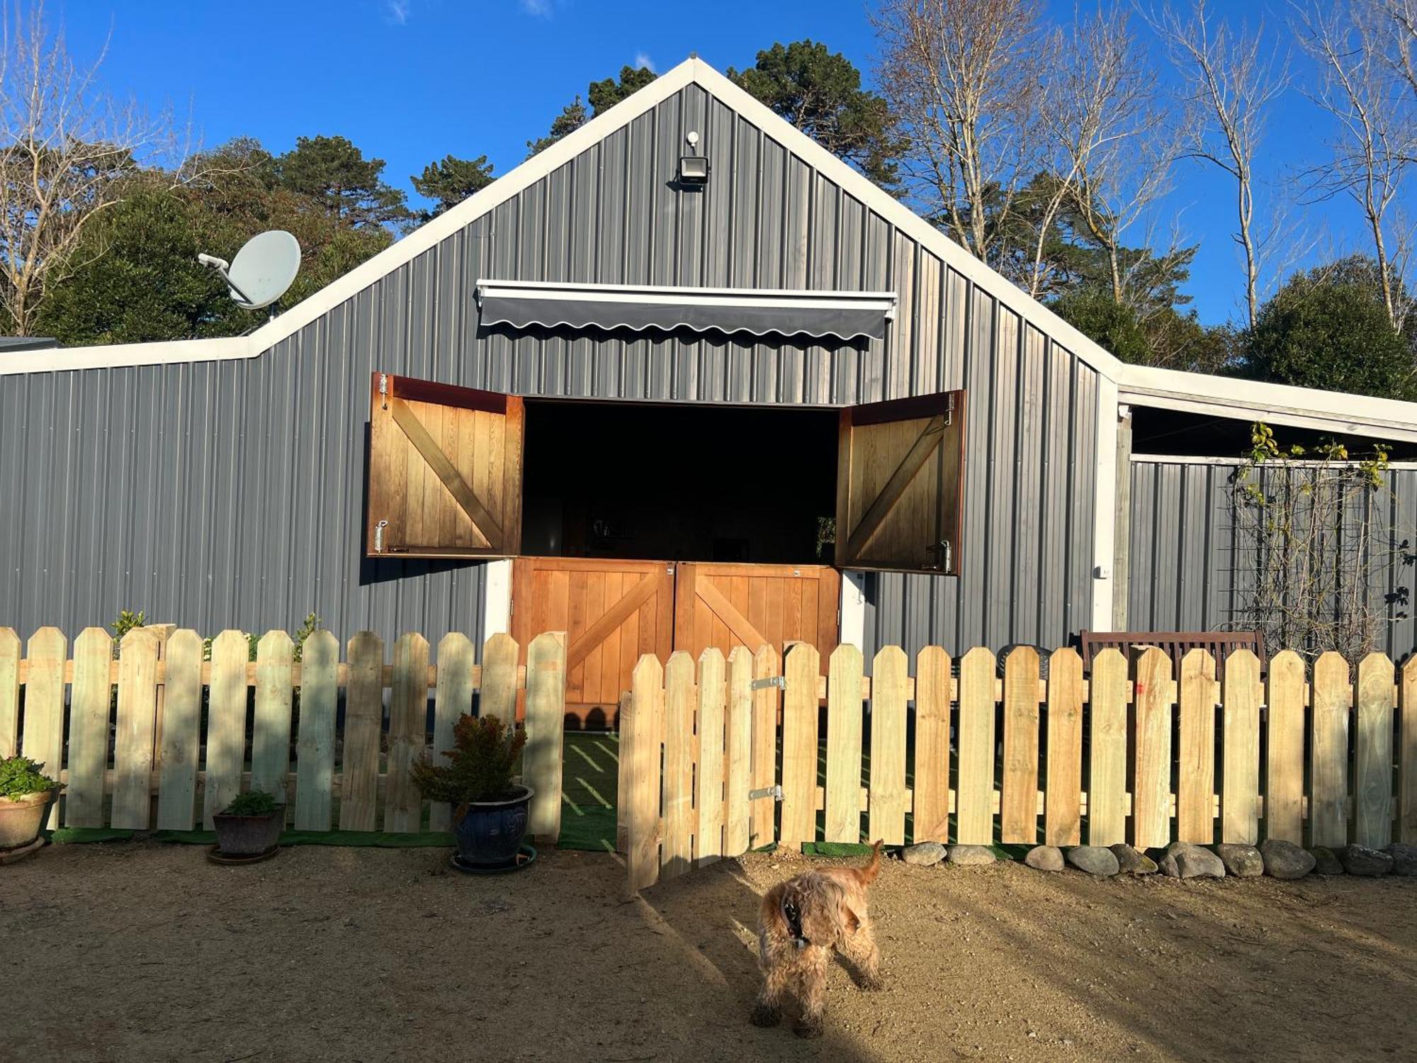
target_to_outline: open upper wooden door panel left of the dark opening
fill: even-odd
[[[521,400],[374,373],[370,557],[513,557],[521,550]]]

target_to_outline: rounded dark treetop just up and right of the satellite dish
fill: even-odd
[[[275,160],[281,184],[353,228],[401,224],[410,218],[405,196],[384,184],[384,160],[366,159],[343,136],[299,136]]]

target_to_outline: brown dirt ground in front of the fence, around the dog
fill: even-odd
[[[0,867],[17,1060],[1413,1059],[1417,880],[1093,880],[887,865],[887,988],[748,1023],[752,855],[622,901],[609,856],[469,879],[444,849],[51,846]]]

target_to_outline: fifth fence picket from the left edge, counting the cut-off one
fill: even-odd
[[[157,829],[191,831],[201,755],[201,635],[190,628],[174,631],[164,652]]]

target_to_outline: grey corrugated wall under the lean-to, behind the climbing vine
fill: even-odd
[[[1233,502],[1240,468],[1240,462],[1132,462],[1129,629],[1217,631],[1253,624],[1247,602],[1257,578],[1255,550],[1247,524],[1236,522]],[[1272,478],[1280,475],[1285,473],[1264,471],[1261,486],[1272,490]],[[1335,527],[1335,549],[1356,549],[1365,520],[1372,551],[1369,602],[1386,618],[1379,648],[1406,658],[1417,649],[1417,566],[1411,560],[1417,554],[1417,471],[1389,471],[1366,505],[1350,506]]]

